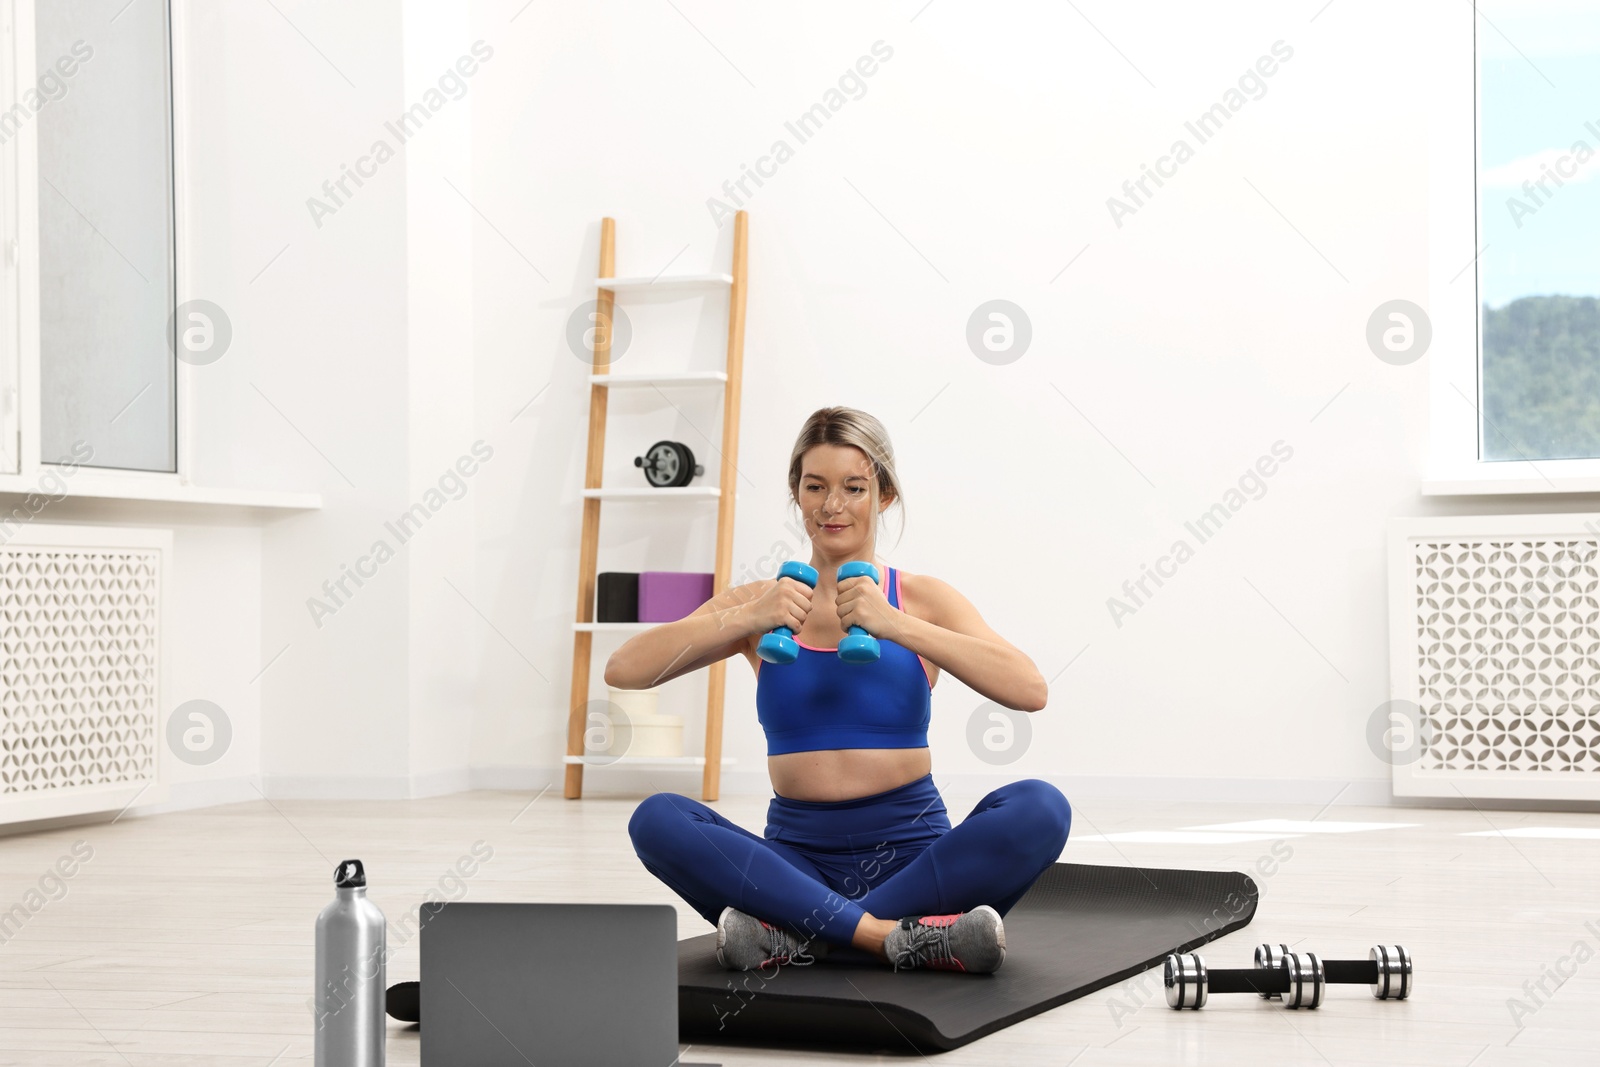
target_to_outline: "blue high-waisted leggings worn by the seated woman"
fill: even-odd
[[[627,833],[645,870],[715,925],[725,907],[803,939],[848,945],[862,915],[1005,915],[1067,843],[1072,808],[1038,779],[1011,782],[950,827],[933,774],[872,797],[773,797],[755,837],[698,800],[654,793]]]

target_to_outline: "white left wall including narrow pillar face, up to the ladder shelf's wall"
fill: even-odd
[[[325,504],[262,526],[251,773],[270,795],[464,789],[462,472],[493,445],[472,418],[472,80],[434,96],[470,46],[464,10],[194,6],[194,274],[235,325],[203,368],[197,480]]]

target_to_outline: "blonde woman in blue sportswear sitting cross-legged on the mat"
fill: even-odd
[[[949,670],[1005,707],[1037,712],[1034,662],[950,585],[878,566],[878,514],[899,502],[888,435],[872,416],[822,408],[800,430],[789,490],[811,539],[816,589],[792,577],[728,589],[677,622],[622,645],[606,685],[650,688],[733,654],[757,672],[773,800],[762,837],[678,793],[654,793],[629,835],[650,873],[717,926],[733,969],[870,953],[894,966],[992,973],[1003,915],[1067,841],[1072,809],[1054,785],[995,789],[952,827],[933,784],[928,718]],[[786,625],[798,659],[765,664],[757,643]],[[848,627],[878,640],[843,662]]]

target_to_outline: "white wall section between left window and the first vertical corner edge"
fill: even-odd
[[[197,258],[237,338],[206,368],[219,371],[208,411],[227,424],[211,429],[235,443],[240,483],[325,501],[262,533],[261,662],[282,651],[259,681],[274,792],[278,777],[290,789],[296,777],[403,779],[410,733],[405,557],[320,627],[306,606],[408,501],[405,163],[352,187],[320,227],[307,208],[400,110],[400,11],[283,11],[200,8],[189,54],[206,106],[195,139],[208,146],[194,186],[218,197],[202,208]]]

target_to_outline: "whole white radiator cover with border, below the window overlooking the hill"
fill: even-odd
[[[1600,800],[1600,515],[1392,520],[1389,675],[1395,795]]]

